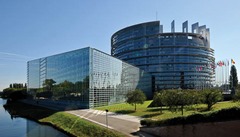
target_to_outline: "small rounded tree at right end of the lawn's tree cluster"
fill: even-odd
[[[207,104],[207,110],[210,110],[214,104],[222,100],[222,93],[215,88],[204,89],[202,92],[203,103]]]

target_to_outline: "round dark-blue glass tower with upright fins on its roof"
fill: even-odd
[[[182,24],[182,32],[163,32],[160,21],[141,23],[114,33],[111,55],[133,64],[154,76],[155,91],[161,89],[198,89],[214,80],[214,50],[205,25]]]

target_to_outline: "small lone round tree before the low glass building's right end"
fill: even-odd
[[[143,104],[146,100],[146,95],[139,89],[136,89],[134,91],[130,91],[126,95],[126,102],[128,104],[135,106],[135,111],[137,110],[137,104]]]

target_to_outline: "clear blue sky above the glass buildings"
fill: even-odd
[[[156,13],[164,32],[172,20],[176,31],[186,20],[189,28],[207,25],[216,61],[233,58],[240,69],[239,7],[239,0],[1,0],[0,91],[27,82],[29,60],[87,46],[110,54],[114,32]]]

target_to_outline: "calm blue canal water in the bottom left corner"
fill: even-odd
[[[0,137],[68,137],[46,125],[25,118],[13,118],[4,109],[6,100],[0,98]]]

